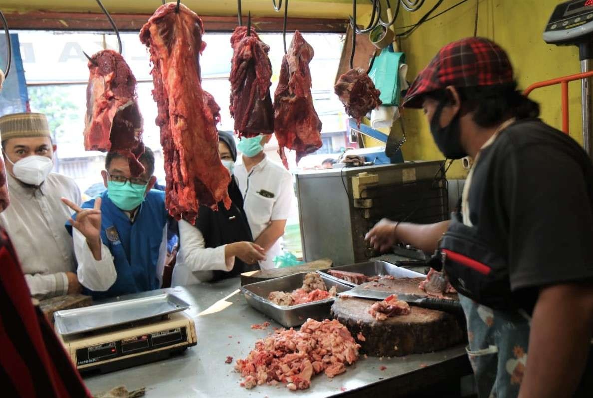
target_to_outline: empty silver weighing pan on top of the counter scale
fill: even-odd
[[[114,301],[96,306],[62,310],[54,314],[56,330],[62,335],[123,325],[142,319],[162,316],[189,308],[189,304],[173,294]]]

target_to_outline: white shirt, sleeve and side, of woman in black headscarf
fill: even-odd
[[[192,224],[180,220],[179,251],[173,268],[171,286],[185,286],[212,279],[212,271],[231,271],[235,258],[225,259],[225,246],[206,248],[204,236]]]

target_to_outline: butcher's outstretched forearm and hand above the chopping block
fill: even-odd
[[[439,240],[448,228],[449,221],[435,224],[398,224],[384,219],[366,234],[365,239],[380,251],[388,251],[397,243],[404,242],[431,253],[437,249]]]

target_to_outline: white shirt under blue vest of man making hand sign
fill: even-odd
[[[132,220],[130,213],[123,212]],[[101,259],[95,260],[91,248],[88,247],[87,238],[79,230],[72,228],[72,237],[74,238],[74,252],[78,260],[78,281],[87,289],[93,291],[109,290],[117,279],[117,271],[113,264],[113,256],[109,248],[101,243]],[[161,246],[158,249],[157,259],[157,278],[159,285],[162,285],[162,271],[165,268],[167,259],[167,225],[162,229]],[[132,259],[133,261],[133,259]]]

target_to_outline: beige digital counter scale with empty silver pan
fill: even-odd
[[[196,329],[172,294],[55,313],[56,332],[81,372],[101,373],[168,358],[196,345]]]

